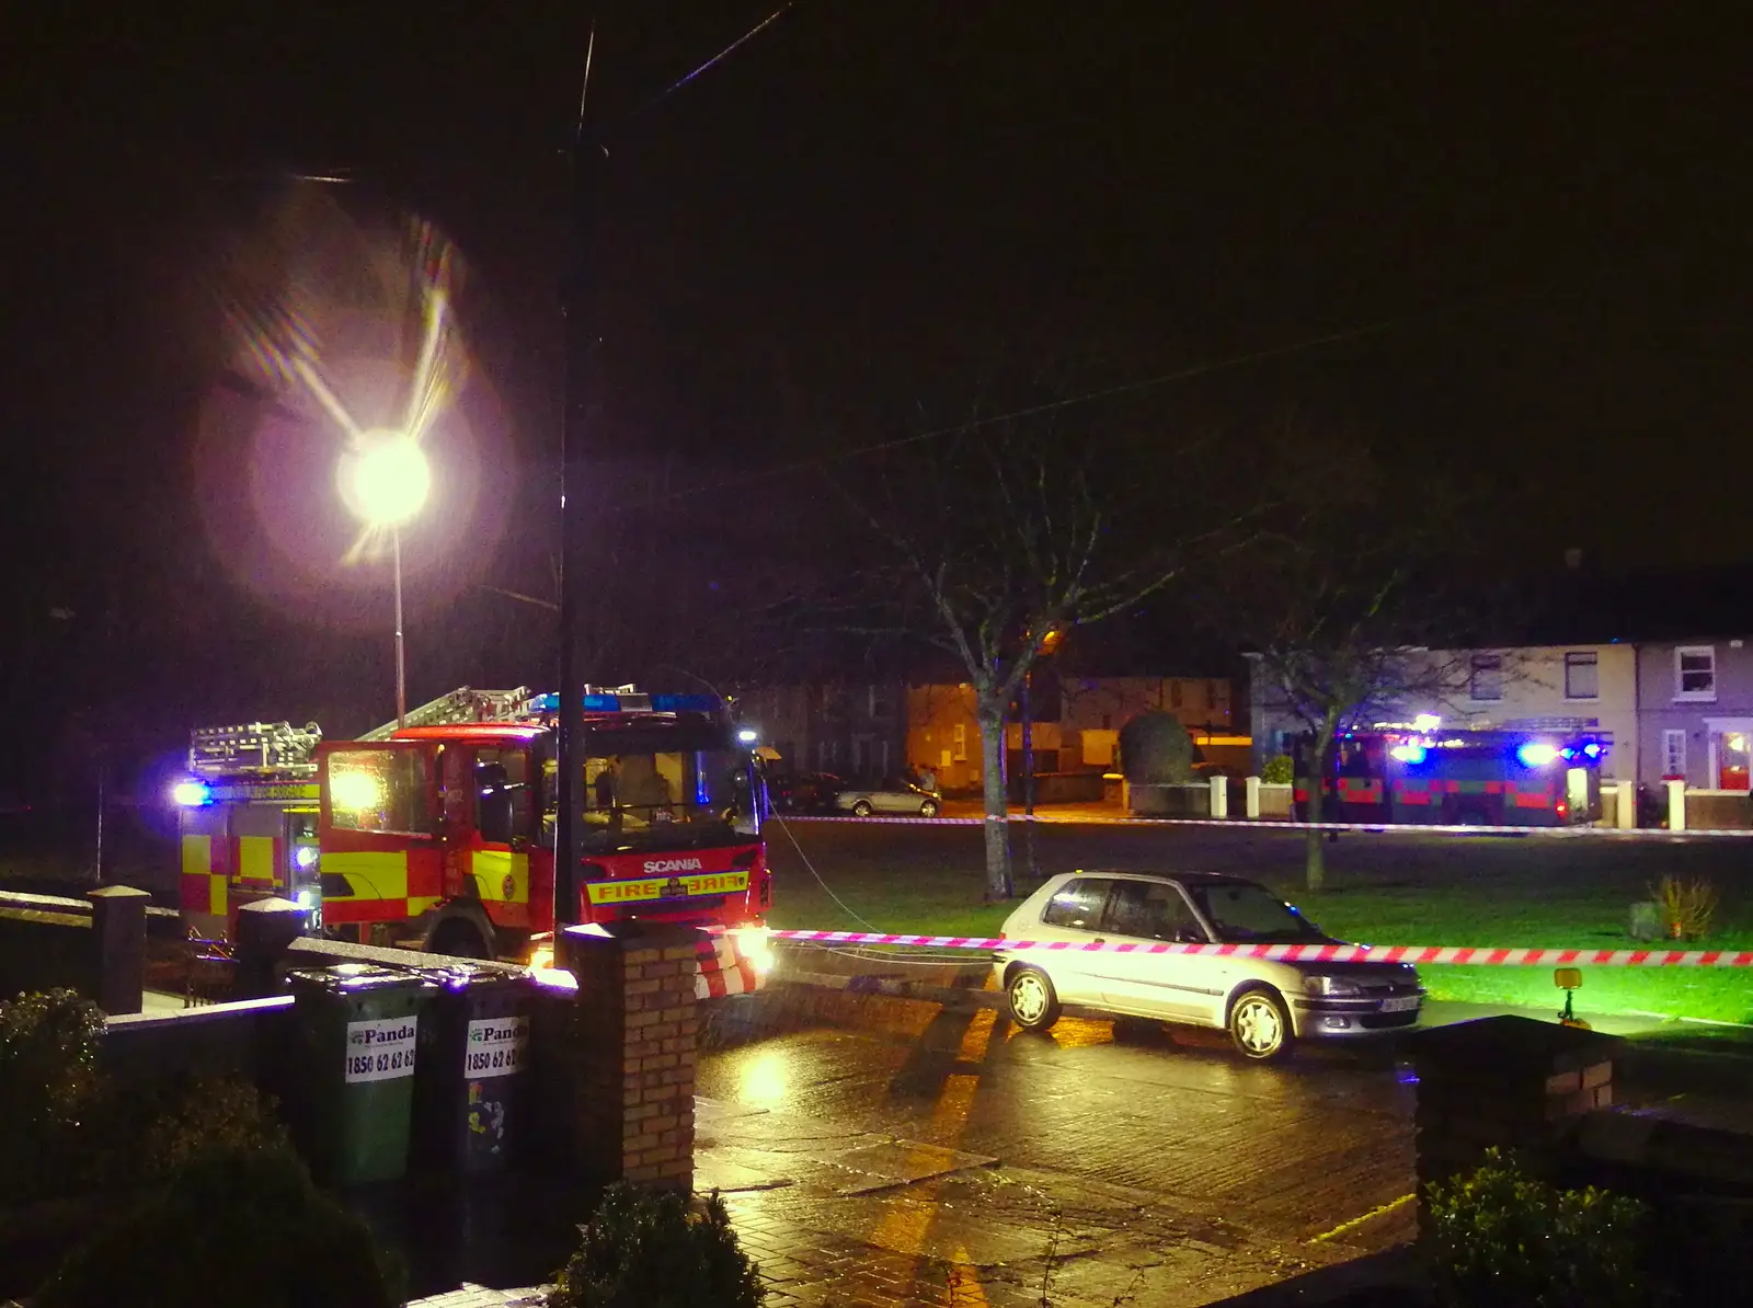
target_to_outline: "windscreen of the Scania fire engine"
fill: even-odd
[[[756,833],[749,756],[731,749],[589,754],[586,850],[692,849]]]

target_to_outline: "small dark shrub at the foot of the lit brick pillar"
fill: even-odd
[[[689,1212],[677,1192],[612,1185],[559,1273],[550,1308],[759,1308],[754,1262],[717,1192]]]

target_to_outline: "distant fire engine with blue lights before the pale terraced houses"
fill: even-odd
[[[1295,817],[1309,821],[1313,736],[1295,747]],[[1600,819],[1600,759],[1590,729],[1455,731],[1430,719],[1350,731],[1322,777],[1325,822],[1380,826],[1578,826]]]

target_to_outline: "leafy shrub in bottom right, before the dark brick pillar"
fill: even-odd
[[[1492,1148],[1427,1189],[1439,1296],[1455,1308],[1634,1308],[1644,1208],[1593,1187],[1557,1191]]]

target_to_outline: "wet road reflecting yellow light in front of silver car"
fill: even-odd
[[[859,1005],[701,1059],[696,1185],[775,1308],[1203,1304],[1411,1236],[1385,1049],[1257,1066],[1204,1033]]]

